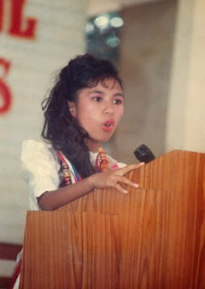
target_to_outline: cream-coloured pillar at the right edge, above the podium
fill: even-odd
[[[180,1],[166,149],[205,152],[205,2]]]

